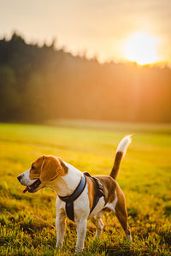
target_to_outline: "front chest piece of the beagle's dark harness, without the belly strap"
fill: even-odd
[[[79,185],[74,190],[74,193],[70,194],[69,196],[59,196],[59,198],[62,199],[62,201],[66,202],[67,216],[72,221],[74,221],[74,200],[78,199],[80,194],[85,189],[85,185],[86,185],[86,178],[85,176],[82,176]]]

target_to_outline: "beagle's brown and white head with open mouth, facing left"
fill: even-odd
[[[54,181],[58,176],[65,176],[68,173],[68,167],[62,162],[61,158],[54,156],[42,156],[34,161],[29,170],[21,173],[17,177],[21,185],[27,186],[23,193],[37,192]]]

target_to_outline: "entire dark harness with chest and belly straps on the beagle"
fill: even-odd
[[[77,186],[77,188],[75,188],[74,193],[70,194],[69,196],[59,196],[59,198],[62,199],[62,201],[66,202],[65,208],[66,208],[67,216],[72,221],[74,221],[74,200],[78,199],[80,194],[85,189],[85,185],[86,185],[86,178],[85,178],[85,176],[91,177],[97,183],[97,187],[98,187],[97,197],[96,197],[96,199],[94,201],[94,204],[91,207],[91,211],[94,210],[94,208],[96,207],[99,199],[102,196],[105,197],[104,193],[103,193],[103,185],[102,185],[102,183],[99,182],[99,180],[96,177],[92,177],[88,172],[85,172],[84,176],[81,177],[79,185]],[[90,211],[90,214],[91,214],[91,211]]]

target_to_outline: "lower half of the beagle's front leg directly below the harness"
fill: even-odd
[[[75,253],[80,253],[84,247],[85,234],[86,234],[86,223],[87,219],[80,219],[77,222],[77,245],[75,248]]]

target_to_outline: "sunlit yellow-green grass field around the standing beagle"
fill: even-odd
[[[123,128],[124,127],[124,128]],[[48,188],[23,194],[17,181],[42,154],[54,154],[91,175],[109,175],[117,144],[133,132],[133,143],[117,181],[126,194],[133,243],[124,239],[113,213],[103,216],[94,240],[88,223],[84,255],[171,254],[171,128],[100,123],[83,128],[0,124],[0,255],[70,255],[76,229],[67,221],[64,247],[56,252],[56,193]]]

